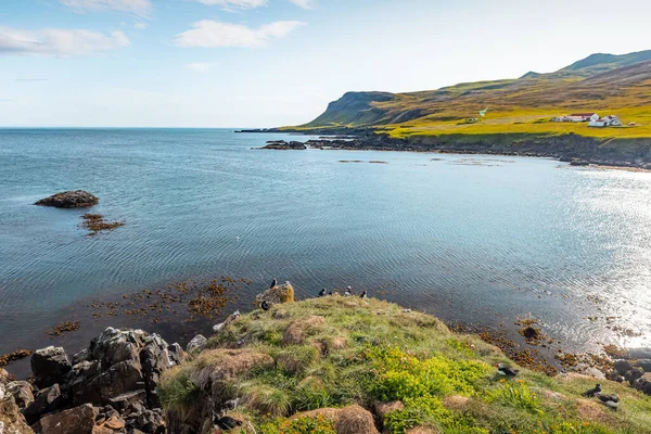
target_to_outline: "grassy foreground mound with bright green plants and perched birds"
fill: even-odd
[[[241,348],[240,340],[272,365],[201,390],[204,379],[233,368],[219,365],[225,349],[215,348]],[[651,433],[651,398],[628,386],[602,382],[605,393],[622,398],[613,411],[580,396],[592,379],[523,370],[518,380],[500,381],[497,362],[508,362],[499,349],[455,334],[434,317],[378,299],[330,296],[245,315],[167,372],[161,396],[181,419],[196,417],[192,408],[209,390],[209,403],[239,397],[238,414],[268,434],[332,433],[329,421],[304,420],[303,427],[283,421],[318,408],[395,400],[405,408],[387,416],[388,433],[410,426],[430,430],[423,433]]]

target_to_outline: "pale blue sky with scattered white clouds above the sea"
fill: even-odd
[[[275,127],[651,49],[648,0],[0,0],[0,126]]]

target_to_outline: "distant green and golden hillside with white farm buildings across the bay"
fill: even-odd
[[[299,129],[371,127],[393,137],[574,132],[597,138],[651,138],[651,51],[595,54],[557,73],[460,84],[434,91],[347,93]],[[381,98],[378,98],[381,95]],[[463,124],[489,107],[477,124]],[[637,127],[589,128],[548,119],[573,112],[614,114]],[[461,125],[460,125],[461,124]]]

